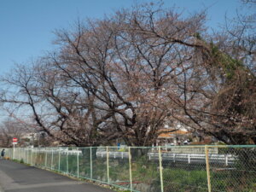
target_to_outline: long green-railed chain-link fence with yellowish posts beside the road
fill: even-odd
[[[5,156],[130,191],[256,191],[255,145],[6,148]]]

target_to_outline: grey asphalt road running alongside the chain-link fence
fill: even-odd
[[[10,160],[0,160],[0,192],[113,192],[91,183],[25,166]]]

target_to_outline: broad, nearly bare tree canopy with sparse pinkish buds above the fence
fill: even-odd
[[[154,3],[78,21],[55,31],[59,49],[2,78],[1,102],[67,145],[148,146],[173,121],[256,143],[252,23],[212,34],[205,21]]]

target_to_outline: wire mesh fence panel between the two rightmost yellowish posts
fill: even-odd
[[[154,154],[151,153],[155,158]],[[207,191],[206,154],[201,147],[161,148],[164,191]]]

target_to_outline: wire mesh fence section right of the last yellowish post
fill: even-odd
[[[256,148],[218,148],[210,167],[212,191],[256,191]]]

